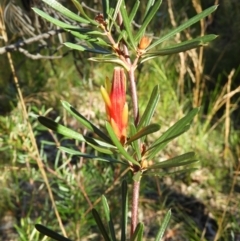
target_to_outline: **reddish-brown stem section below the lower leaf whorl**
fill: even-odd
[[[139,201],[140,181],[133,181],[133,196],[132,196],[132,219],[131,219],[131,237],[138,223],[138,201]]]

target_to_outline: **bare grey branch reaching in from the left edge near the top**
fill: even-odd
[[[50,30],[46,33],[42,33],[42,34],[34,36],[32,38],[22,40],[22,41],[19,41],[17,43],[14,43],[14,44],[11,44],[8,46],[1,47],[0,54],[4,54],[6,52],[12,52],[12,51],[20,51],[23,53],[24,51],[22,51],[23,49],[21,47],[34,43],[34,42],[37,42],[37,41],[40,41],[42,39],[48,39],[51,36],[54,36],[54,35],[56,35],[58,33],[62,33],[62,32],[65,32],[65,30],[63,30],[63,29]],[[42,57],[44,57],[44,56],[42,56]]]

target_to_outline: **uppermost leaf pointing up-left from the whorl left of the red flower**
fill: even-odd
[[[104,141],[109,144],[112,143],[111,139],[105,135],[99,128],[97,128],[92,122],[86,119],[83,115],[81,115],[75,108],[73,108],[68,102],[62,101],[63,107],[79,121],[83,126],[85,126],[88,130],[94,132],[99,137],[101,137]]]

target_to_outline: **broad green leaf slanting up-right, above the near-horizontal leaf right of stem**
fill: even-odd
[[[150,148],[146,152],[147,159],[153,159],[157,153],[162,150],[167,143],[178,136],[179,134],[184,133],[186,130],[188,130],[189,125],[191,124],[194,116],[198,113],[199,108],[194,108],[191,110],[186,116],[184,116],[182,119],[177,121],[173,126],[171,126],[166,132],[164,132],[160,138],[158,138],[155,142],[152,143]],[[166,139],[168,139],[166,141]],[[161,145],[158,145],[160,144]],[[154,147],[154,148],[153,148]],[[149,150],[151,150],[149,152]]]

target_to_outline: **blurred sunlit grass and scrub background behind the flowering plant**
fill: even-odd
[[[70,1],[62,2],[74,9]],[[128,2],[131,8],[134,1]],[[101,1],[86,4],[101,11]],[[194,150],[200,161],[198,170],[143,179],[140,219],[146,226],[146,240],[154,238],[169,208],[173,218],[164,240],[240,240],[240,2],[166,0],[148,31],[161,36],[214,4],[219,4],[214,14],[170,41],[206,33],[219,35],[215,41],[204,48],[149,61],[137,71],[140,111],[152,88],[160,84],[161,100],[154,118],[162,131],[192,106],[202,106],[194,127],[159,157],[162,160]],[[46,240],[34,229],[35,223],[60,232],[5,52],[5,46],[54,29],[34,15],[33,5],[53,11],[37,0],[1,1],[0,5],[8,36],[7,43],[0,37],[0,240]],[[135,28],[144,7],[142,3]],[[54,11],[51,14],[61,17]],[[22,26],[21,19],[25,19]],[[67,33],[58,33],[23,46],[28,54],[12,51],[11,56],[64,228],[73,240],[101,240],[89,210],[95,205],[100,209],[96,201],[105,193],[119,223],[124,170],[67,156],[58,150],[59,145],[92,150],[48,131],[36,121],[36,116],[46,115],[92,135],[63,111],[60,100],[66,100],[97,125],[104,125],[99,87],[106,76],[111,78],[113,66],[92,63],[87,61],[91,54],[63,47],[61,43],[67,39],[74,41]]]

